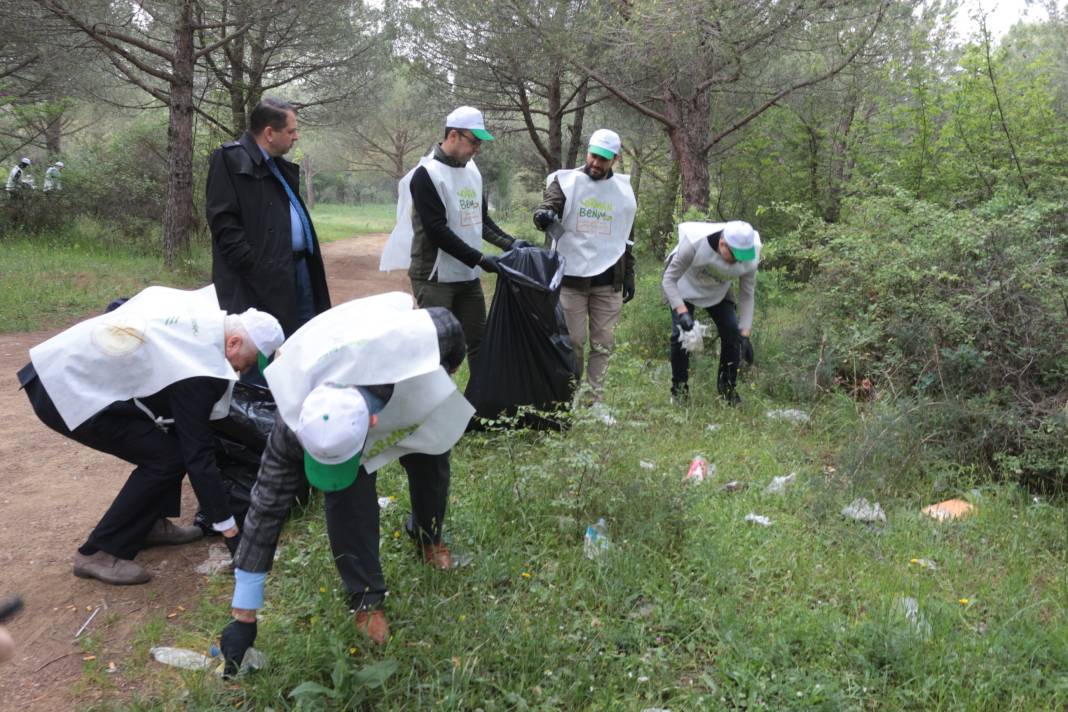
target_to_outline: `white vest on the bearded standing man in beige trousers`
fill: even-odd
[[[615,173],[594,180],[579,169],[556,171],[546,181],[564,192],[564,236],[556,250],[568,276],[595,276],[618,262],[627,249],[638,202],[630,176]]]

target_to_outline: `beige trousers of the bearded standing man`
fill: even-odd
[[[583,370],[593,391],[595,401],[601,399],[604,390],[604,371],[608,370],[608,358],[612,355],[614,338],[612,332],[619,321],[619,311],[623,308],[623,292],[616,291],[612,285],[600,287],[561,287],[560,304],[564,307],[564,319],[567,321],[567,332],[575,347],[575,361],[579,366],[579,381]],[[590,366],[585,365],[586,334],[590,335]]]

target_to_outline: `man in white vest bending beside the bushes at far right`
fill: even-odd
[[[729,405],[741,402],[735,386],[741,359],[753,363],[749,336],[761,247],[760,234],[740,220],[679,224],[678,247],[668,255],[660,283],[672,310],[671,392],[676,402],[685,402],[690,393],[690,354],[679,339],[682,331],[693,329],[697,306],[712,318],[720,335],[717,389]],[[737,301],[733,279],[738,280]]]

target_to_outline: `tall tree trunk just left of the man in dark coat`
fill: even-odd
[[[183,0],[174,28],[174,80],[167,128],[169,162],[163,208],[163,263],[173,268],[189,246],[193,225],[193,30],[192,0]]]

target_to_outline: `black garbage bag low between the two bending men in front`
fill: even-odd
[[[260,458],[267,446],[267,438],[274,427],[278,406],[270,391],[262,385],[234,384],[230,400],[230,414],[211,421],[215,430],[215,458],[222,475],[222,490],[226,493],[230,511],[238,526],[245,525],[245,515],[252,500],[252,486],[260,472]],[[297,493],[298,502],[308,501],[308,486]],[[211,533],[211,522],[203,511],[197,512],[193,523],[205,534]]]

